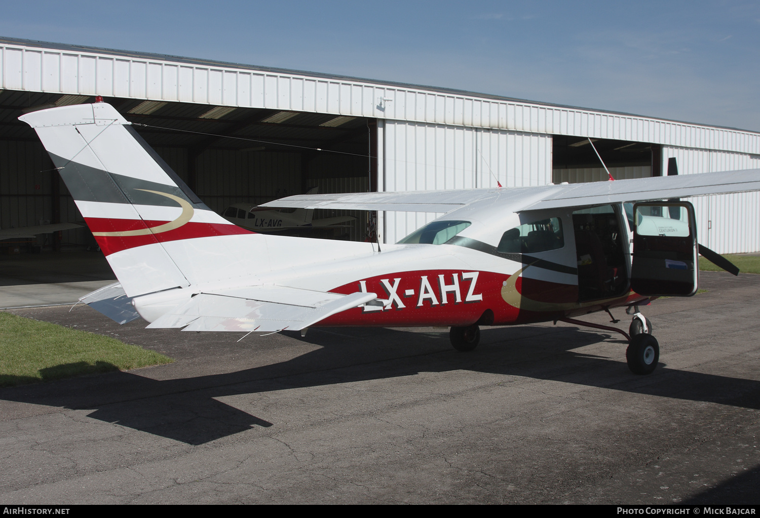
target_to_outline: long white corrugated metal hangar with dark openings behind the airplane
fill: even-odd
[[[760,168],[760,133],[447,88],[0,38],[0,228],[81,220],[17,120],[103,96],[212,209],[306,192],[416,191]],[[760,193],[693,200],[700,241],[760,251]],[[376,217],[396,242],[435,217]],[[316,216],[316,215],[315,215]],[[86,229],[51,248],[82,247]]]

